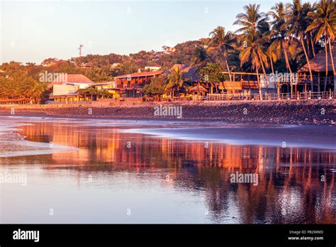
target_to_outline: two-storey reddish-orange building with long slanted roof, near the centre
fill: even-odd
[[[128,75],[119,75],[114,77],[116,81],[116,90],[122,98],[142,97],[142,88],[154,77],[162,75],[162,71],[136,72]]]

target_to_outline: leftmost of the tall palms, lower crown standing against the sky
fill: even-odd
[[[223,56],[231,81],[232,78],[230,66],[228,64],[228,53],[230,50],[233,50],[233,43],[235,42],[235,38],[233,38],[233,33],[225,33],[225,28],[223,28],[222,26],[218,26],[217,28],[213,29],[213,31],[211,31],[209,35],[211,35],[209,46],[210,48],[217,48],[219,55]]]

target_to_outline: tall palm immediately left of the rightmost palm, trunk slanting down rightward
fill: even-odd
[[[308,27],[308,18],[305,14],[301,0],[293,0],[293,4],[287,4],[288,12],[286,14],[287,21],[283,24],[284,28],[288,28],[287,35],[289,38],[296,38],[301,42],[303,52],[305,53],[308,64],[310,83],[313,83],[313,72],[310,67],[310,60],[303,40],[307,38],[306,29]],[[313,88],[312,88],[313,90]]]

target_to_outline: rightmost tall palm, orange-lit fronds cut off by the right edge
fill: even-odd
[[[327,87],[327,45],[329,43],[332,70],[334,72],[334,94],[336,94],[336,73],[334,59],[332,57],[332,45],[335,42],[336,11],[335,3],[332,0],[320,0],[315,4],[316,11],[310,11],[308,16],[313,19],[313,23],[306,28],[306,31],[317,31],[315,43],[318,43],[324,35],[325,39],[325,88]]]

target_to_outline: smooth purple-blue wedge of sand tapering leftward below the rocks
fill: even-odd
[[[160,138],[219,142],[230,145],[322,148],[336,150],[335,126],[224,125],[203,128],[133,128],[125,133],[143,133]]]

